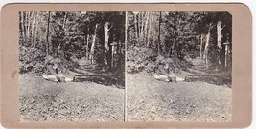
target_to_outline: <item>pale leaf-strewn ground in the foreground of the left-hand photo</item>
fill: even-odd
[[[123,121],[124,89],[20,75],[20,121]]]

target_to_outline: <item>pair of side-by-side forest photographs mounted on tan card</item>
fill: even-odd
[[[20,11],[20,121],[232,120],[232,15]]]

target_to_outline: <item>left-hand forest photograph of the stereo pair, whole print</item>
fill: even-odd
[[[20,11],[21,121],[122,121],[125,12]]]

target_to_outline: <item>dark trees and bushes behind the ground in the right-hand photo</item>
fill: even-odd
[[[171,57],[179,70],[204,61],[205,71],[231,77],[232,15],[228,12],[128,12],[129,73],[154,72],[157,56]]]

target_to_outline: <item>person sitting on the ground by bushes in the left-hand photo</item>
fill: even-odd
[[[74,77],[63,75],[64,68],[61,66],[62,60],[57,57],[47,56],[45,59],[46,72],[43,78],[54,82],[69,82],[73,81]]]

